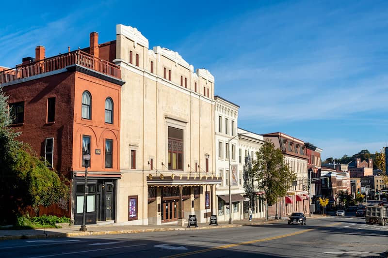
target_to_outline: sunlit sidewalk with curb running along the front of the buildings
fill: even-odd
[[[321,215],[314,215],[318,218]],[[287,219],[284,217],[282,219]],[[147,226],[129,226],[129,225],[86,225],[87,231],[81,232],[80,226],[71,226],[63,228],[45,228],[45,229],[24,229],[24,230],[0,230],[0,240],[15,240],[15,239],[44,239],[44,238],[56,238],[56,237],[81,237],[90,235],[110,235],[110,234],[130,234],[130,233],[143,233],[143,232],[158,232],[158,231],[175,231],[175,230],[200,230],[200,229],[217,229],[217,228],[237,228],[249,225],[260,225],[265,223],[272,223],[276,220],[271,218],[266,221],[264,218],[253,219],[249,221],[235,220],[233,224],[227,222],[219,222],[219,226],[209,226],[208,223],[198,223],[198,228],[186,228],[178,225],[147,225]],[[187,225],[187,223],[186,223]]]

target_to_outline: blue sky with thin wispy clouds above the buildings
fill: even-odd
[[[387,145],[387,1],[18,1],[0,10],[0,65],[115,39],[136,27],[241,106],[239,127],[283,132],[323,159]],[[8,6],[7,6],[8,5]]]

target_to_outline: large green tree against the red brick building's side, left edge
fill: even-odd
[[[68,199],[65,180],[16,139],[20,133],[9,127],[12,117],[7,100],[0,90],[0,223],[14,223],[16,214],[28,206],[38,212],[40,205]]]

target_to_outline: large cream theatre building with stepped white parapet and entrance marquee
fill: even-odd
[[[215,211],[214,77],[136,28],[117,25],[121,92],[117,223],[183,225]]]

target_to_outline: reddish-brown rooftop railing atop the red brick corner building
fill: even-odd
[[[76,50],[66,54],[46,58],[29,64],[19,65],[15,68],[1,71],[0,84],[64,69],[66,66],[73,64],[78,64],[118,79],[121,78],[119,66],[108,61],[98,59],[81,50]]]

